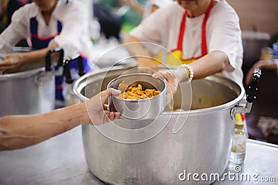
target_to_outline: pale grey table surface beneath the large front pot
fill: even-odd
[[[275,178],[278,183],[278,145],[248,140],[241,173],[257,174],[257,179]],[[94,184],[104,185],[88,169],[83,154],[81,127],[22,150],[0,152],[0,184]],[[234,172],[229,164],[227,172]],[[231,181],[214,184],[262,184]]]

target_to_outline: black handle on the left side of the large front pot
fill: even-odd
[[[72,61],[78,62],[78,67],[79,67],[79,76],[82,77],[85,72],[84,72],[84,65],[83,65],[83,58],[81,56],[78,56],[74,59],[70,60],[65,60],[63,66],[64,66],[64,72],[65,72],[65,82],[68,84],[72,84],[74,79],[72,79],[72,74],[70,73],[70,63]]]

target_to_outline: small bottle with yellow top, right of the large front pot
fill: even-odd
[[[240,113],[237,113],[233,144],[231,146],[231,162],[235,164],[243,163],[245,159],[246,141],[247,133],[244,129],[243,116]]]

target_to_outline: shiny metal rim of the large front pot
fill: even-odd
[[[83,89],[85,86],[83,85],[83,83],[87,84],[88,81],[88,77],[93,75],[93,74],[98,74],[98,73],[102,73],[102,72],[107,72],[108,69],[110,70],[122,70],[123,67],[122,66],[116,66],[116,67],[108,67],[108,68],[104,68],[101,70],[98,70],[97,72],[90,72],[88,74],[85,74],[83,77],[81,77],[80,79],[78,79],[77,81],[74,82],[74,86],[73,86],[73,91],[74,93],[83,101],[87,101],[89,98],[85,97],[84,95],[82,95],[79,91],[81,89]],[[224,104],[220,104],[218,106],[211,106],[208,108],[199,108],[199,109],[195,109],[195,110],[188,110],[188,111],[163,111],[161,113],[161,115],[183,115],[186,114],[188,115],[188,113],[190,114],[199,114],[199,113],[211,113],[211,112],[216,112],[219,110],[223,110],[226,108],[232,108],[233,106],[236,106],[236,104],[238,104],[238,102],[240,102],[241,99],[243,99],[243,97],[245,97],[245,89],[243,88],[243,85],[241,85],[240,83],[237,83],[236,81],[232,81],[231,79],[228,79],[227,77],[223,77],[220,74],[215,74],[209,77],[206,77],[204,79],[211,79],[211,78],[218,78],[220,81],[228,81],[228,84],[233,84],[235,86],[238,86],[240,88],[240,93],[238,95],[238,97],[236,97],[235,99],[231,100],[230,102],[224,103]],[[84,81],[84,79],[86,79]],[[83,85],[83,86],[81,86]],[[81,88],[82,87],[82,88]]]

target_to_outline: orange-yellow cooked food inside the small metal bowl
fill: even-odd
[[[159,93],[161,93],[160,90],[156,90],[154,88],[152,89],[147,88],[145,90],[142,90],[142,85],[140,83],[138,84],[137,87],[128,86],[125,81],[122,81],[119,84],[118,89],[124,92],[117,96],[122,99],[146,99],[146,98],[154,97],[156,95],[159,95]]]

